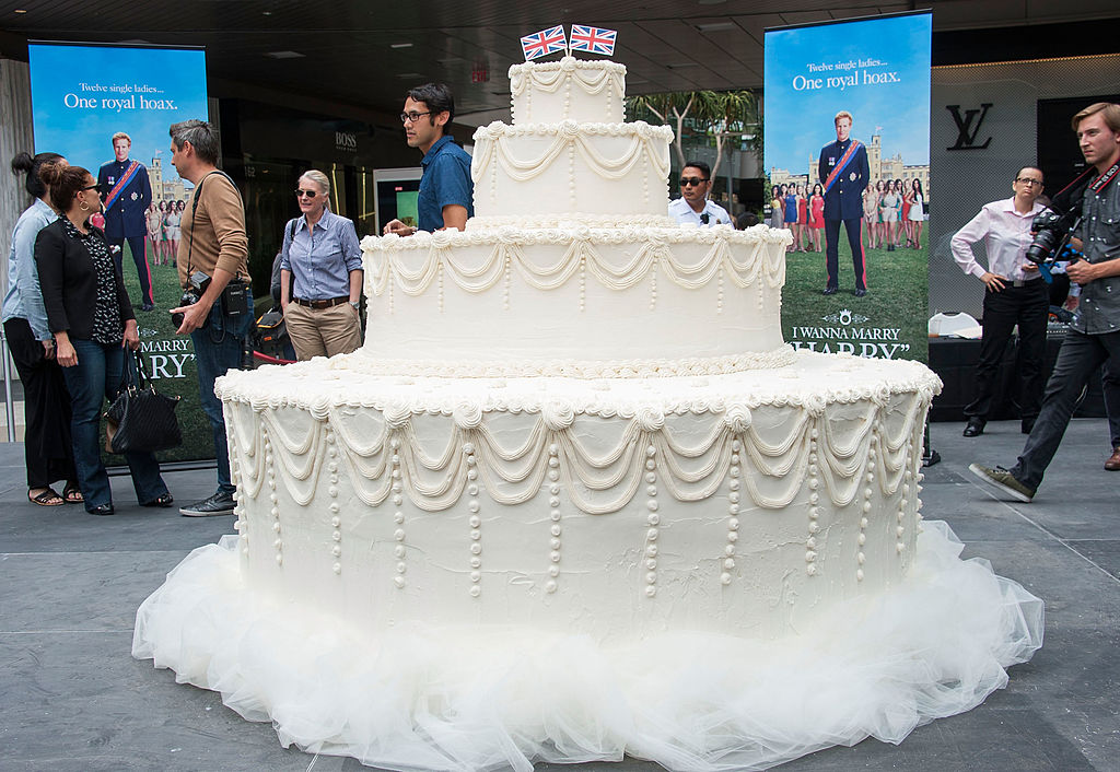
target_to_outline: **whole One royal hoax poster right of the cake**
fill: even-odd
[[[769,224],[787,227],[797,348],[925,361],[928,12],[765,34]]]

